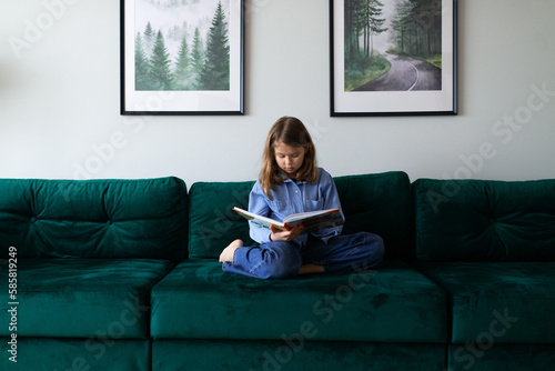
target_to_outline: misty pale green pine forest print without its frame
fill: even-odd
[[[230,90],[229,4],[138,0],[135,90]]]

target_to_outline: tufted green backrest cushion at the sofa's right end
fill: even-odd
[[[413,191],[418,260],[555,259],[555,180],[418,179]]]

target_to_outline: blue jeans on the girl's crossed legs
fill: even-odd
[[[327,243],[309,237],[305,244],[266,242],[260,247],[241,247],[233,262],[225,262],[225,272],[260,279],[294,277],[303,264],[322,265],[326,272],[374,269],[383,261],[382,238],[367,232],[331,238]]]

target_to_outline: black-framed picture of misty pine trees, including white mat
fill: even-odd
[[[120,0],[121,114],[243,114],[244,0]]]

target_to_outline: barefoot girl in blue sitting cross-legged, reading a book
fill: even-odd
[[[249,211],[282,221],[293,213],[326,209],[341,210],[335,183],[324,169],[316,167],[316,150],[304,124],[299,119],[283,117],[268,134]],[[383,260],[383,241],[375,234],[340,235],[342,225],[307,234],[302,225],[280,231],[249,223],[250,235],[260,247],[243,247],[243,241],[233,241],[220,255],[224,271],[283,279],[302,273],[377,268]]]

